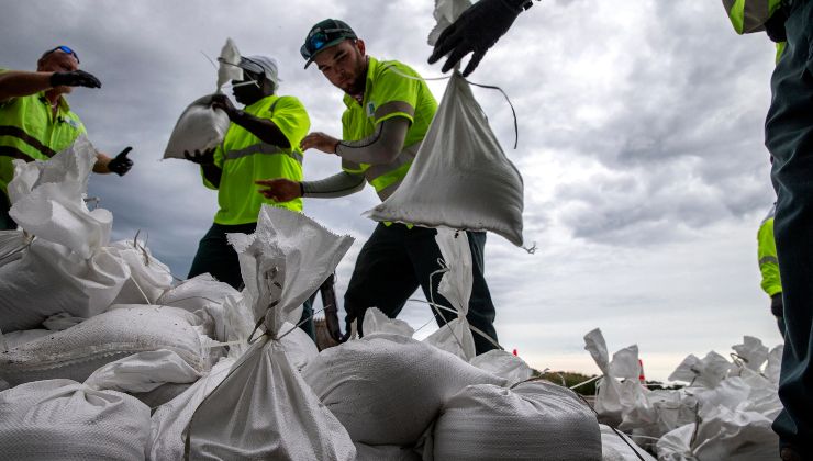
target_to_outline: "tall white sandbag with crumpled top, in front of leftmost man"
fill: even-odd
[[[35,328],[60,312],[97,315],[130,279],[130,266],[107,246],[112,215],[85,205],[94,161],[96,149],[83,136],[48,161],[15,160],[10,214],[36,237],[20,259],[0,267],[3,331]]]

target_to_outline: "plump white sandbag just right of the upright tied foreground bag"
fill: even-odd
[[[391,334],[323,350],[302,376],[353,440],[369,445],[412,445],[466,385],[505,384],[449,352]]]

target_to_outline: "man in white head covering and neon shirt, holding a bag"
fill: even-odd
[[[238,66],[244,79],[233,81],[237,109],[225,94],[218,94],[212,106],[223,110],[231,121],[216,148],[185,153],[201,167],[203,184],[218,191],[219,210],[214,223],[200,240],[189,269],[189,278],[210,273],[238,289],[243,284],[237,252],[226,234],[253,234],[263,204],[302,211],[302,200],[278,203],[256,192],[254,181],[268,177],[302,180],[302,149],[299,143],[311,126],[304,105],[292,95],[276,94],[279,86],[277,61],[267,56],[243,56]],[[302,329],[315,337],[311,302],[305,303]]]

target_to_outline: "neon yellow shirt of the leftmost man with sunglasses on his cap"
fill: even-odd
[[[0,69],[0,74],[8,71]],[[45,93],[12,98],[0,103],[0,189],[5,193],[14,178],[15,158],[47,160],[70,147],[86,134],[85,125],[65,98],[59,98],[56,114]]]

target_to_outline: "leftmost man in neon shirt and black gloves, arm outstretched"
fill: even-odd
[[[34,72],[0,69],[0,231],[16,228],[9,215],[12,160],[47,160],[87,135],[64,97],[74,87],[100,88],[101,82],[79,70],[79,56],[67,46],[43,53]],[[126,173],[133,166],[129,151],[130,147],[115,158],[97,151],[93,171]]]

